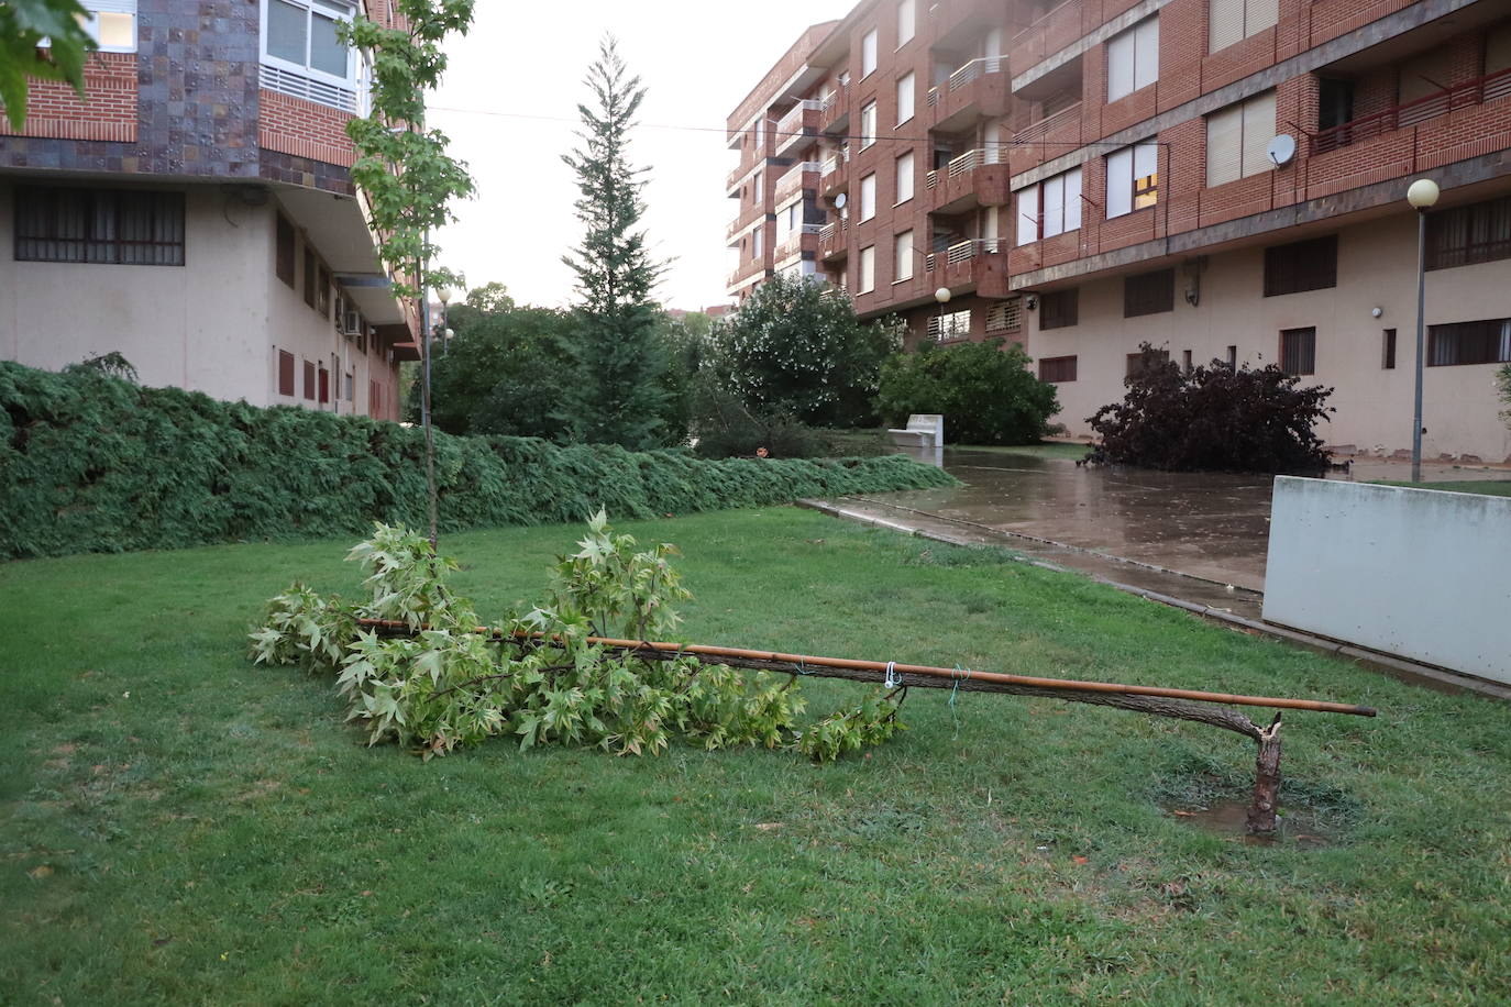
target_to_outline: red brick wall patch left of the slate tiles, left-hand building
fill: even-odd
[[[136,54],[94,53],[85,65],[85,97],[65,83],[35,80],[20,133],[0,119],[0,136],[66,140],[136,140]]]

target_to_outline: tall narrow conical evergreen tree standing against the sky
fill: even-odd
[[[562,156],[577,172],[582,196],[574,205],[586,234],[577,254],[562,260],[577,273],[583,325],[573,346],[574,394],[561,418],[583,441],[656,447],[666,438],[666,361],[650,294],[663,266],[651,261],[645,233],[636,229],[645,169],[632,168],[627,152],[645,88],[626,69],[612,36],[600,44],[585,83],[597,109],[577,106],[582,146]]]

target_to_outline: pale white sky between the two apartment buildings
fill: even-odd
[[[737,152],[725,145],[725,119],[804,29],[843,17],[852,3],[477,0],[471,32],[447,44],[450,66],[429,101],[431,124],[477,183],[476,198],[455,207],[458,223],[437,237],[441,263],[461,270],[468,287],[505,284],[520,303],[573,299],[574,275],[561,257],[579,243],[582,225],[573,213],[576,175],[561,156],[576,146],[577,103],[588,101],[582,79],[612,32],[647,88],[630,160],[650,169],[648,243],[657,258],[675,258],[657,297],[688,309],[727,303],[734,261],[724,229],[737,207],[724,180]]]

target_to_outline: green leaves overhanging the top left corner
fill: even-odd
[[[79,0],[0,3],[0,104],[12,130],[26,124],[29,79],[63,80],[83,97],[85,56],[97,48],[82,21],[88,14]]]

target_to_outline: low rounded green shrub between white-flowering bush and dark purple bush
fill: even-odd
[[[923,343],[899,353],[882,368],[876,408],[893,424],[914,412],[943,414],[952,442],[1034,444],[1059,411],[1055,385],[1034,376],[1017,343],[1002,347],[1003,340]]]

